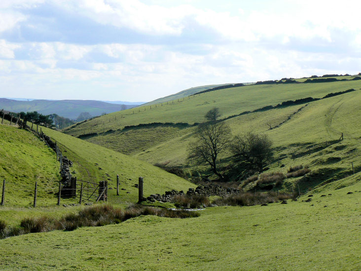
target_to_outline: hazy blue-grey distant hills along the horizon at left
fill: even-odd
[[[59,116],[75,119],[82,112],[88,112],[92,116],[99,116],[103,113],[112,113],[120,110],[133,108],[137,105],[111,104],[93,100],[33,100],[17,101],[0,98],[0,109],[13,112],[37,111],[43,115],[57,114]]]

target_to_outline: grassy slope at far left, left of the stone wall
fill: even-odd
[[[56,155],[34,134],[4,120],[0,124],[0,180],[6,180],[5,204],[33,203],[35,182],[38,202],[55,202],[54,192],[60,180]]]

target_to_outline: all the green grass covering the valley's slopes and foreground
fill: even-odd
[[[286,100],[357,89],[307,105],[226,120],[233,134],[253,130],[269,135],[275,157],[268,172],[286,173],[289,166],[309,166],[311,172],[306,177],[288,178],[277,188],[281,192],[299,189],[304,195],[297,201],[210,207],[200,211],[197,218],[141,216],[117,225],[10,237],[0,240],[0,270],[360,270],[360,87],[360,81],[346,81],[217,90],[168,107],[152,106],[143,113],[125,115],[131,111],[123,111],[102,116],[67,131],[76,136],[117,130],[86,140],[43,127],[43,132],[56,140],[63,154],[74,162],[71,171],[75,170],[78,179],[108,180],[109,187],[114,188],[119,174],[120,187],[125,190],[120,190],[120,196],[114,189],[108,190],[108,202],[125,207],[138,199],[134,184],[139,176],[144,177],[145,196],[195,187],[148,162],[182,165],[186,170],[207,174],[203,166],[192,168],[186,159],[194,127],[164,125],[121,130],[125,125],[156,121],[193,123],[201,121],[207,110],[215,106],[229,116]],[[114,119],[106,122],[109,116]],[[99,122],[102,119],[107,128]],[[283,124],[269,130],[267,123],[272,127]],[[44,187],[56,187],[60,176],[55,154],[30,132],[7,124],[0,125],[0,177],[23,185],[24,190],[32,188],[35,180],[44,181]],[[344,140],[338,141],[341,132]],[[19,148],[24,151],[18,152]],[[31,159],[29,154],[33,155]],[[229,154],[220,158],[221,166],[232,162]],[[21,167],[14,168],[12,163]],[[285,166],[280,167],[282,164]],[[24,177],[20,172],[24,171],[32,174],[26,174],[25,182],[20,184]],[[253,185],[250,183],[245,190],[252,190]],[[11,193],[7,195],[14,196],[15,201],[0,206],[0,219],[11,226],[19,225],[24,217],[59,218],[82,208],[29,208],[31,195],[29,201],[21,198],[20,191]],[[305,201],[309,199],[311,202]],[[39,202],[47,200],[56,202],[55,195],[41,194]],[[18,204],[23,206],[14,206]]]

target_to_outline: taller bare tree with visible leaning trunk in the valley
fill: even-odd
[[[217,170],[217,156],[227,150],[230,132],[228,124],[224,121],[200,124],[195,132],[196,141],[189,146],[188,157],[195,159],[199,164],[208,163],[212,171],[223,179]]]

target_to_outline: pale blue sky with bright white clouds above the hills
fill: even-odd
[[[361,72],[361,1],[1,0],[0,97],[151,101]]]

